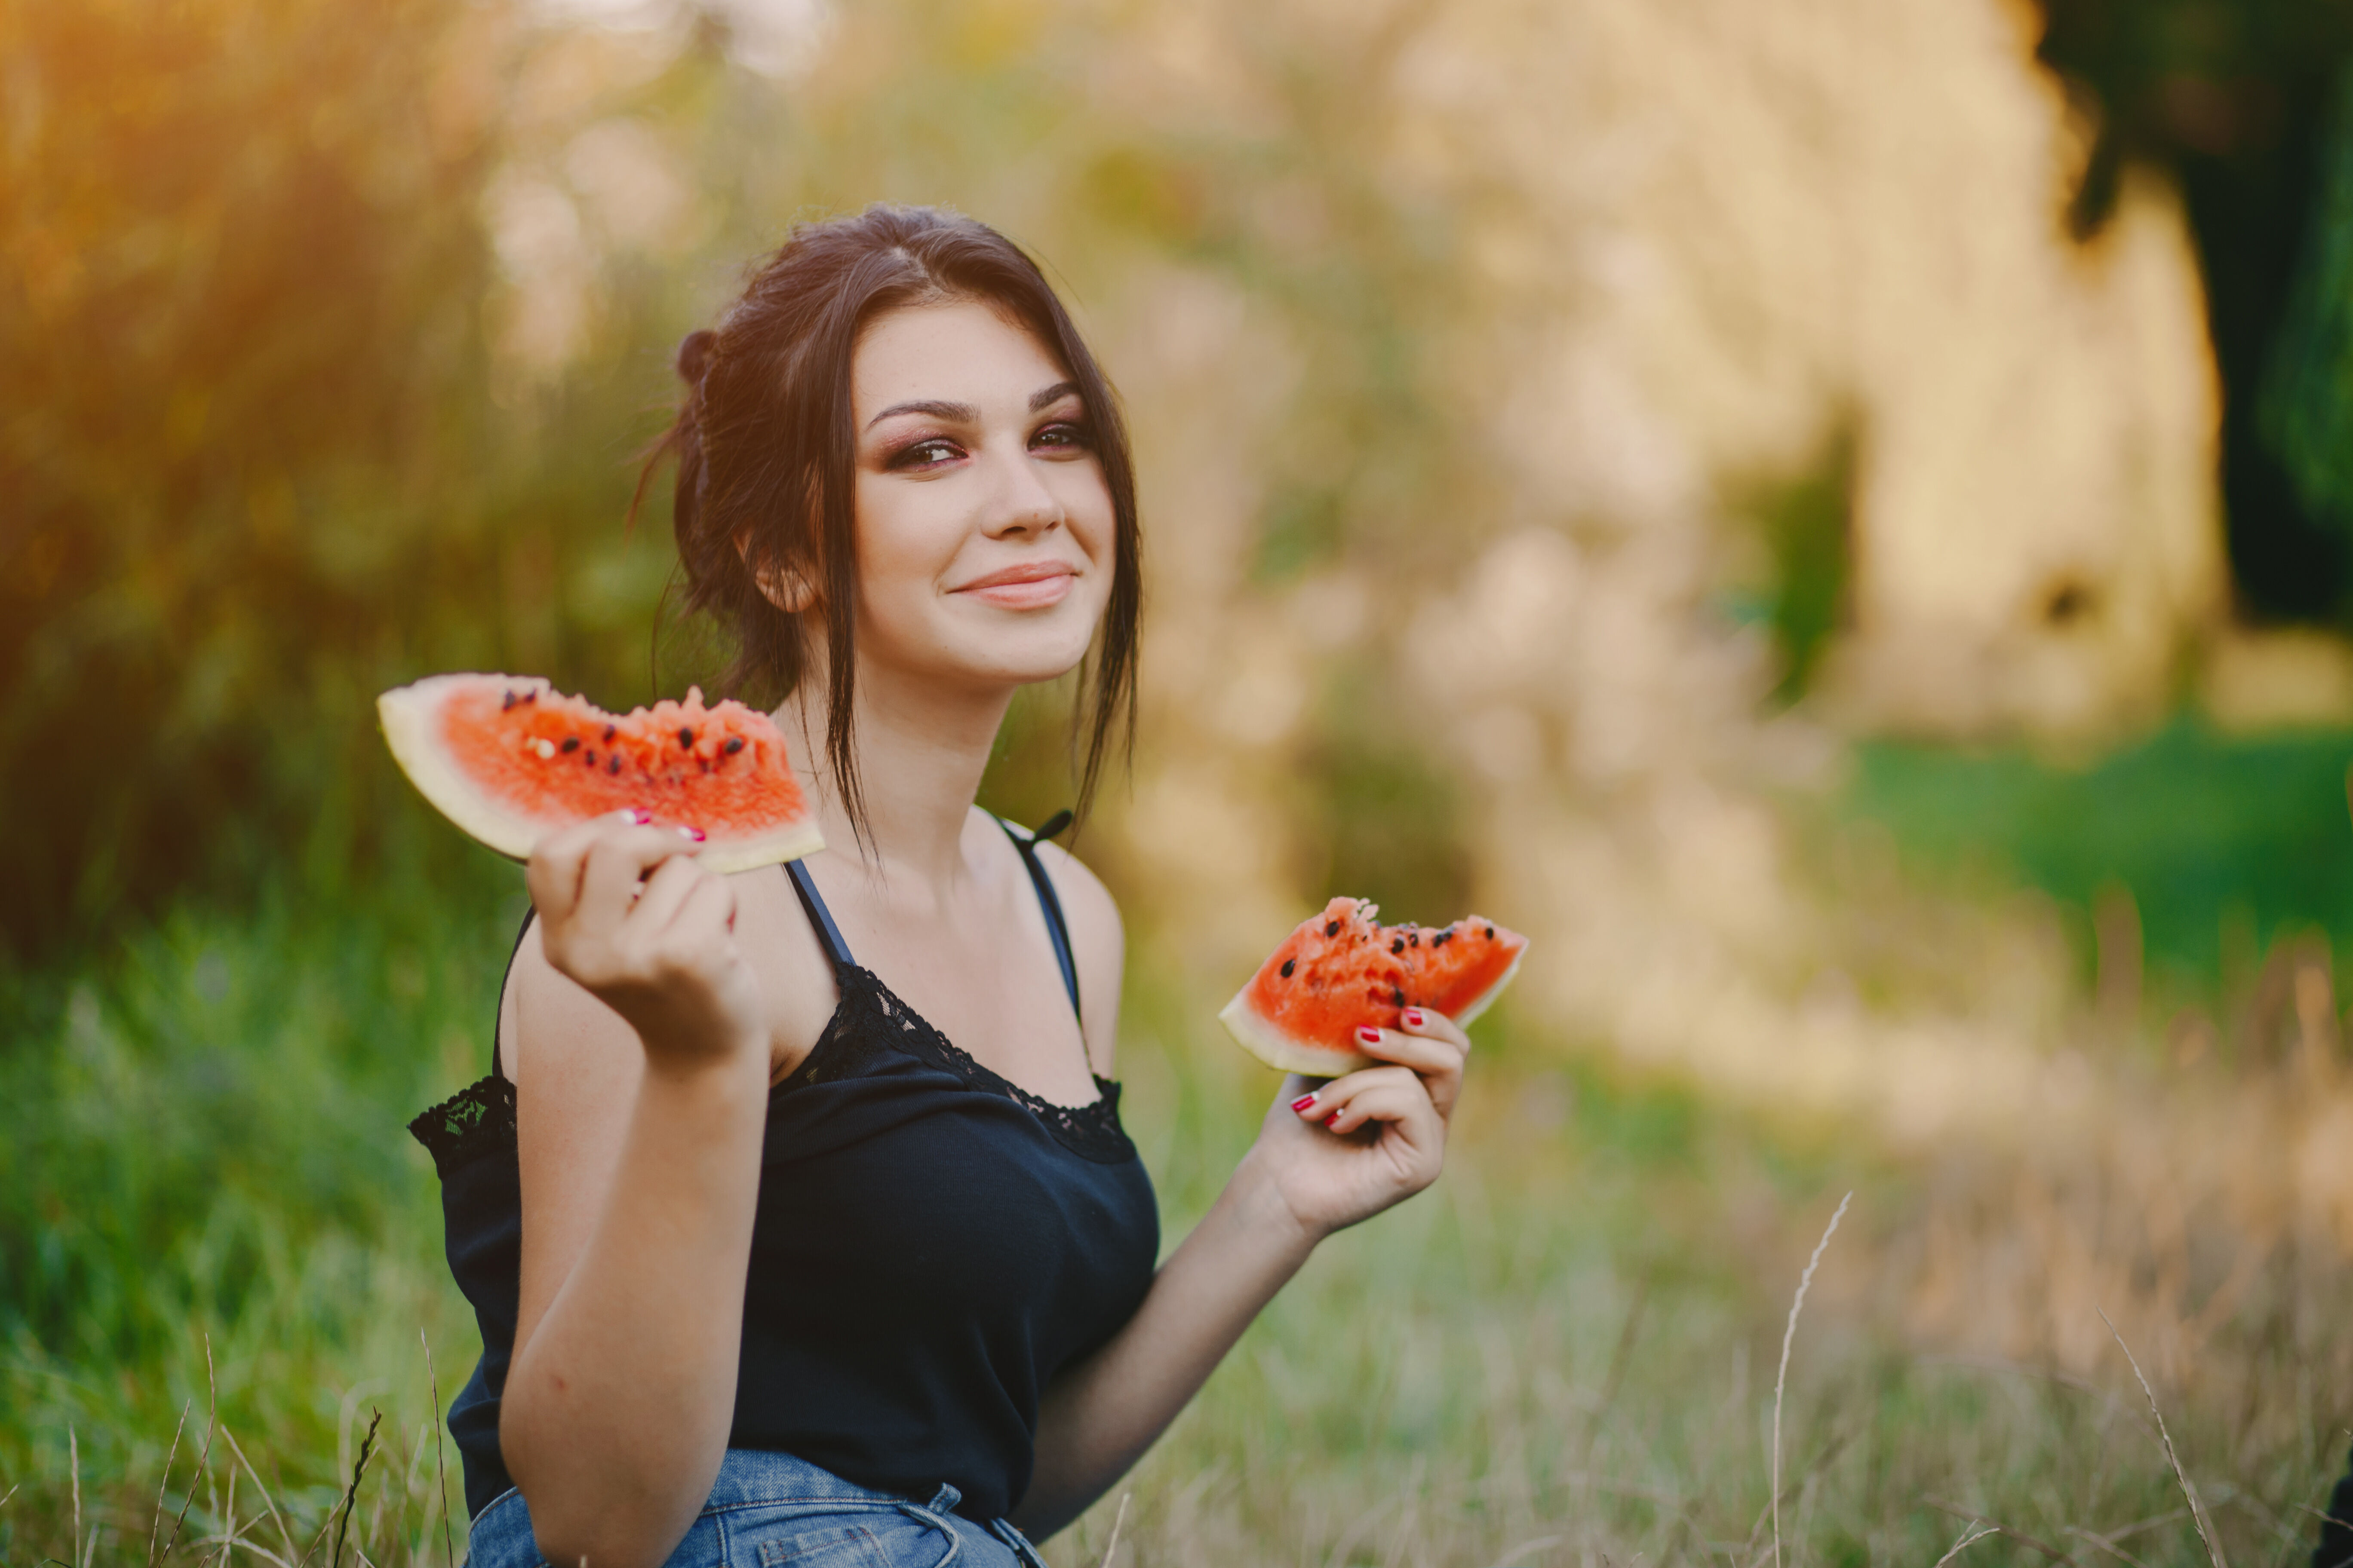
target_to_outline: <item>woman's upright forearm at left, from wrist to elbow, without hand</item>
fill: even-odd
[[[647,1063],[605,1208],[518,1345],[499,1446],[548,1561],[659,1563],[734,1418],[765,1053]]]

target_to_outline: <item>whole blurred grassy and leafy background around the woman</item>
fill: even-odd
[[[2101,1314],[2221,1559],[2308,1549],[2353,644],[2341,583],[2233,611],[2228,148],[2099,165],[2007,0],[355,12],[0,2],[0,1563],[181,1507],[172,1561],[442,1552],[426,1356],[447,1401],[475,1345],[402,1124],[480,1072],[520,893],[367,701],[708,675],[631,454],[741,263],[875,197],[1033,244],[1136,430],[1141,741],[1080,851],[1169,1234],[1273,1088],[1214,1009],[1306,907],[1537,938],[1449,1175],[1275,1302],[1120,1563],[1765,1568],[1849,1190],[1781,1563],[2221,1568]],[[988,799],[1066,804],[1059,693]]]

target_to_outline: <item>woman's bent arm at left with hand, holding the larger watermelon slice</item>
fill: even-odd
[[[671,1554],[727,1448],[772,1072],[736,893],[668,830],[532,856],[511,1072],[522,1302],[499,1446],[558,1563]]]

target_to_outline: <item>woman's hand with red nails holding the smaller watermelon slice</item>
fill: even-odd
[[[1386,1065],[1329,1081],[1289,1074],[1249,1152],[1315,1239],[1438,1180],[1471,1039],[1442,1013],[1405,1009],[1402,1027],[1358,1030],[1355,1046]]]

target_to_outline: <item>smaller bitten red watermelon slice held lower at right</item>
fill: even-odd
[[[1452,926],[1384,926],[1379,905],[1334,898],[1275,947],[1219,1023],[1268,1067],[1337,1079],[1369,1067],[1358,1025],[1395,1030],[1421,1006],[1459,1025],[1520,973],[1527,938],[1471,914]]]

